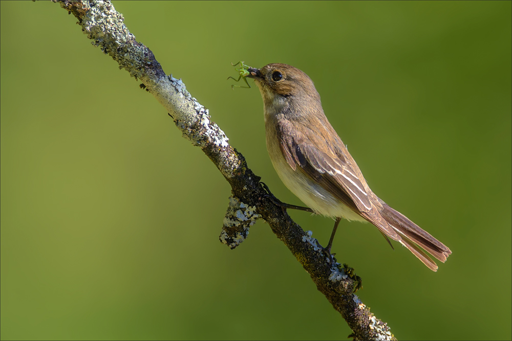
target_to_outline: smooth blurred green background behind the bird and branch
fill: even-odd
[[[219,242],[230,187],[50,2],[1,3],[2,339],[346,339],[258,222]],[[373,191],[453,255],[437,273],[370,224],[333,251],[401,339],[510,339],[510,2],[114,2],[281,200],[258,89],[306,72]],[[327,243],[332,220],[291,212]]]

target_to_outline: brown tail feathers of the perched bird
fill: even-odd
[[[407,247],[409,251],[418,257],[418,259],[432,271],[437,271],[437,264],[427,254],[425,254],[418,245],[443,263],[446,261],[446,258],[452,254],[450,249],[439,240],[432,237],[428,232],[421,229],[409,218],[400,212],[393,210],[387,203],[381,200],[379,201],[382,204],[382,208],[379,208],[380,215],[386,219],[388,224],[400,237],[399,240],[392,238],[398,240],[403,246]]]

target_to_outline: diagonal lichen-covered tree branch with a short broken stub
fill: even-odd
[[[360,279],[348,266],[331,262],[311,233],[305,233],[276,206],[273,196],[260,184],[244,156],[228,143],[224,132],[210,120],[205,109],[187,92],[185,84],[167,76],[147,47],[137,42],[123,24],[122,14],[108,1],[61,2],[72,13],[82,31],[119,63],[131,76],[140,79],[146,90],[169,112],[183,137],[200,147],[231,185],[233,197],[224,222],[221,241],[234,248],[247,235],[255,219],[263,218],[304,266],[319,291],[347,321],[354,339],[395,339],[386,323],[377,319],[355,295]]]

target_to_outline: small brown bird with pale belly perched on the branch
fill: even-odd
[[[452,252],[372,192],[327,120],[308,75],[278,63],[247,71],[263,98],[267,150],[275,171],[313,212],[336,220],[329,254],[341,218],[369,221],[390,245],[388,237],[437,271],[437,264],[418,245],[443,263]]]

